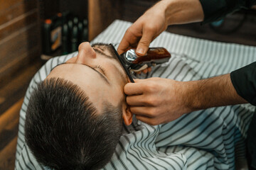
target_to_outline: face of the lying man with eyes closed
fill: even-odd
[[[80,86],[95,105],[102,111],[105,102],[118,106],[124,104],[124,85],[128,79],[110,45],[83,42],[78,56],[55,67],[47,78],[59,77]]]

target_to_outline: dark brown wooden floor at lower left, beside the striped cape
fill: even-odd
[[[40,67],[41,62],[23,67],[0,89],[0,169],[14,169],[19,111],[28,84]]]

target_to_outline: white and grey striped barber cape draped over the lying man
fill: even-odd
[[[93,42],[118,44],[131,23],[114,21]],[[190,81],[224,74],[255,61],[256,48],[162,33],[151,46],[166,47],[172,57],[142,75]],[[49,60],[33,77],[21,108],[16,169],[47,169],[24,143],[24,121],[31,92],[56,64],[78,53]],[[235,169],[245,159],[244,140],[255,108],[246,105],[209,108],[151,126],[134,118],[104,169]]]

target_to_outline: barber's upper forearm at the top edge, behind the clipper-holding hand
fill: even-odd
[[[203,8],[199,0],[162,0],[168,25],[203,21]]]

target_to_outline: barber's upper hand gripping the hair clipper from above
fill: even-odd
[[[137,47],[137,55],[145,55],[149,49],[149,44],[160,33],[167,28],[164,3],[161,1],[149,8],[135,23],[130,26],[117,48],[117,52],[122,54],[129,47]]]

